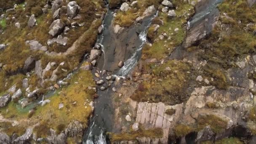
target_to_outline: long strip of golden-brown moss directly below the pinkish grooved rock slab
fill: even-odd
[[[163,136],[163,130],[162,128],[151,128],[146,130],[143,127],[139,126],[138,131],[128,131],[120,134],[115,134],[115,133],[108,133],[108,134],[110,136],[111,142],[131,141],[141,137],[149,137],[151,139],[161,138]]]

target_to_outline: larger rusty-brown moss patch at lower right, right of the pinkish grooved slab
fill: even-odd
[[[200,131],[209,125],[214,133],[221,133],[227,128],[227,121],[215,115],[201,115],[197,119],[197,129]]]

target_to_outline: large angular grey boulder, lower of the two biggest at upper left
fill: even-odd
[[[56,35],[58,35],[62,32],[64,27],[65,27],[64,22],[62,22],[60,19],[57,19],[57,20],[52,22],[52,24],[50,26],[49,34],[51,36],[55,37]]]

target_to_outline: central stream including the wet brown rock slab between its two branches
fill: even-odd
[[[103,32],[99,35],[96,43],[101,45],[103,51],[101,58],[97,61],[97,66],[101,71],[107,70],[112,77],[125,77],[141,58],[142,47],[147,41],[147,29],[157,14],[144,19],[141,24],[125,28],[120,35],[113,33],[113,14],[112,10],[108,10],[103,22]],[[133,39],[132,43],[131,39]],[[122,47],[122,45],[125,46]],[[117,64],[121,60],[125,63],[120,69]],[[91,117],[90,125],[84,133],[83,144],[110,143],[105,133],[115,132],[113,130],[115,109],[112,107],[111,99],[113,87],[112,84],[106,91],[101,91],[100,87],[98,88],[99,97],[94,101],[93,117]]]

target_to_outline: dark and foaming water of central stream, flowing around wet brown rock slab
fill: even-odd
[[[147,29],[149,25],[151,24],[152,19],[157,16],[155,14],[154,16],[148,17],[144,19],[144,21],[137,25],[136,27],[133,27],[131,29],[128,29],[127,33],[128,35],[134,35],[136,32],[139,31],[139,39],[138,43],[135,43],[136,47],[133,49],[129,56],[126,56],[125,64],[124,66],[119,70],[113,70],[111,71],[111,74],[113,77],[125,77],[127,76],[131,70],[136,66],[137,62],[139,61],[141,57],[141,50],[143,48],[143,45],[147,42]],[[111,41],[111,32],[112,32],[112,26],[111,22],[113,19],[113,12],[111,10],[108,10],[105,18],[104,18],[104,29],[101,35],[99,35],[97,44],[101,45],[103,54],[101,56],[101,60],[99,61],[99,67],[101,70],[104,68],[110,67],[110,65],[116,64],[116,60],[113,59],[115,57],[115,48],[117,48],[118,44],[113,44],[113,41]],[[136,30],[134,30],[136,29]],[[128,37],[129,38],[129,37]],[[111,45],[109,44],[111,43]],[[109,46],[110,45],[110,46]],[[115,48],[113,48],[115,47]],[[93,117],[91,117],[90,125],[85,131],[83,136],[83,144],[108,144],[110,143],[107,139],[105,132],[112,132],[113,131],[113,115],[114,115],[114,109],[112,107],[112,100],[111,96],[113,94],[112,92],[113,86],[108,88],[106,91],[98,91],[99,97],[94,101],[94,114]]]

